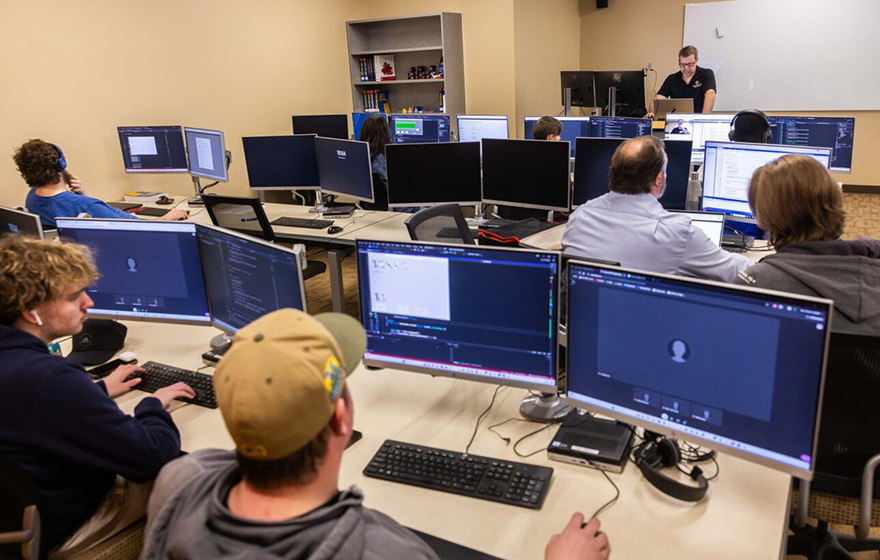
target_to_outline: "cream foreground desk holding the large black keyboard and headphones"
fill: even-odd
[[[125,350],[142,361],[155,360],[195,369],[210,327],[127,323]],[[207,371],[211,371],[208,369]],[[345,452],[340,485],[364,490],[365,504],[398,522],[441,538],[505,558],[539,560],[550,535],[560,531],[578,510],[590,515],[608,501],[614,490],[598,471],[558,463],[541,452],[518,458],[493,433],[491,424],[518,417],[522,389],[503,389],[471,448],[475,454],[546,465],[555,469],[541,510],[424,490],[366,478],[361,471],[385,439],[398,439],[449,450],[464,450],[474,423],[489,404],[491,385],[432,378],[395,370],[368,371],[359,367],[350,379],[355,428],[364,439]],[[144,396],[132,391],[118,398],[130,412]],[[172,412],[183,448],[232,448],[218,410],[180,404]],[[291,413],[293,418],[294,414]],[[535,429],[534,424],[510,422],[497,428],[514,441]],[[521,451],[546,447],[554,429],[527,440]],[[610,476],[620,499],[601,515],[611,539],[614,558],[622,559],[778,559],[786,530],[790,477],[765,467],[721,455],[720,476],[710,483],[708,499],[690,505],[669,498],[645,481],[634,465]],[[712,467],[707,468],[711,474]]]

